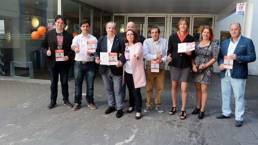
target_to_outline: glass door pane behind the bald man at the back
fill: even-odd
[[[144,32],[144,26],[145,26],[145,17],[128,17],[128,22],[133,22],[135,24],[135,31],[143,35]]]

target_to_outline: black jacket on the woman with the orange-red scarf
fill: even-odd
[[[194,37],[191,35],[187,35],[184,42],[194,42]],[[184,43],[183,42],[183,43]],[[178,43],[181,43],[177,34],[172,34],[168,40],[168,50],[167,56],[171,54],[172,62],[169,62],[169,66],[174,66],[178,68],[187,68],[192,67],[191,58],[193,58],[194,50],[192,51],[192,56],[189,57],[186,53],[177,53],[178,51]]]

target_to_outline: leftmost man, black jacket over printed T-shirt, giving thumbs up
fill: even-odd
[[[71,50],[73,36],[63,29],[65,24],[65,17],[57,15],[55,18],[56,28],[47,31],[42,43],[42,48],[47,57],[47,68],[49,70],[51,81],[50,104],[47,106],[47,109],[52,109],[56,105],[59,74],[64,105],[66,105],[68,108],[73,107],[68,98],[68,74],[71,65],[70,59],[74,53]],[[62,57],[62,61],[56,61],[55,50],[64,50],[64,57]]]

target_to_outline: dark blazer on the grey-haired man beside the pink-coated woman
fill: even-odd
[[[95,57],[100,56],[100,52],[107,52],[107,35],[100,37],[98,40],[97,48],[96,48],[96,53],[94,53]],[[125,63],[125,43],[123,38],[118,37],[115,35],[114,42],[111,48],[111,52],[117,52],[117,56],[119,53],[122,54],[121,57],[118,57],[118,60],[120,60],[123,64]],[[106,65],[99,65],[99,74],[103,74],[106,70]],[[123,75],[123,67],[116,67],[116,65],[110,65],[110,69],[113,75],[115,76],[120,76]]]

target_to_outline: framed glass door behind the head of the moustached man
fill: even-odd
[[[146,36],[150,38],[150,28],[152,26],[157,26],[160,30],[159,37],[166,38],[167,31],[167,16],[147,16],[147,28]]]

